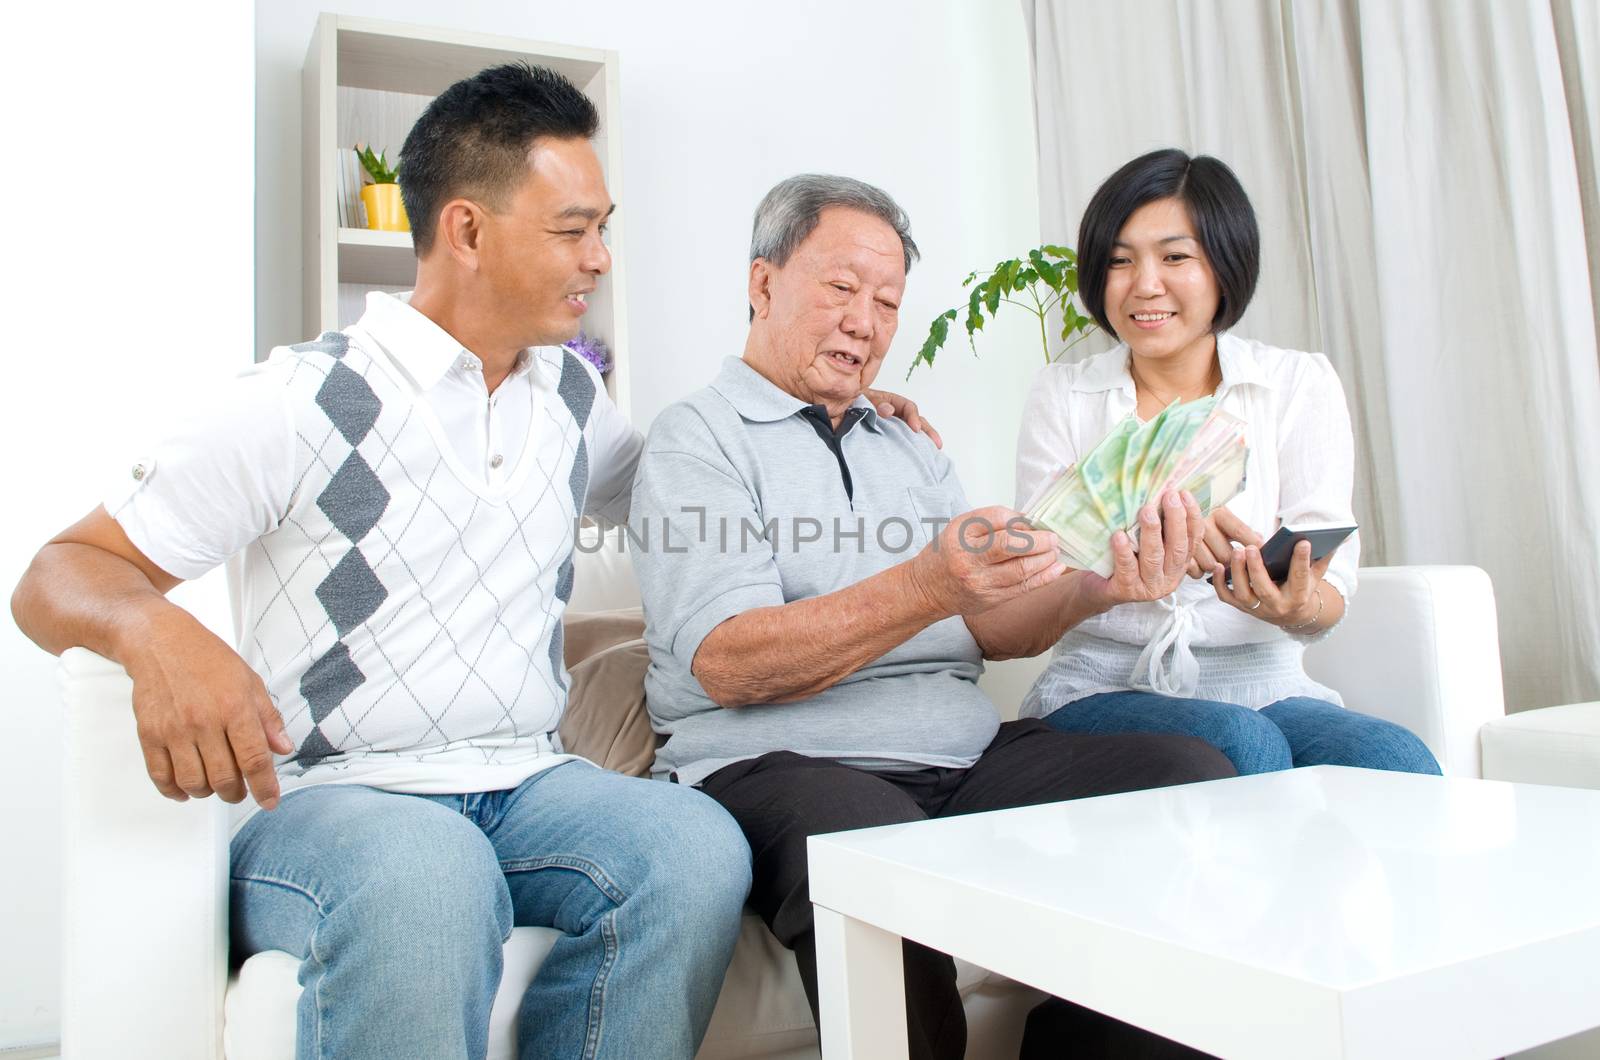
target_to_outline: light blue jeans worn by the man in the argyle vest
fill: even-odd
[[[509,791],[293,791],[234,837],[235,953],[301,958],[298,1057],[483,1057],[512,925],[565,935],[522,1057],[699,1047],[750,889],[733,818],[690,788],[565,762]]]

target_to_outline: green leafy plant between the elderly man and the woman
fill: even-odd
[[[966,344],[973,347],[973,354],[978,352],[978,333],[984,328],[986,320],[995,319],[1002,303],[1021,306],[1038,317],[1038,344],[1043,349],[1045,363],[1051,363],[1077,346],[1094,328],[1094,317],[1080,312],[1074,301],[1078,293],[1078,256],[1070,247],[1054,243],[1035,247],[1021,258],[1002,261],[982,280],[978,279],[976,272],[968,274],[962,280],[962,287],[973,288],[966,298],[965,322]],[[1024,296],[1027,301],[1022,301]],[[1061,341],[1066,344],[1051,354],[1046,322],[1050,311],[1058,307],[1061,309]],[[933,319],[926,341],[906,371],[907,378],[920,363],[933,367],[933,359],[950,338],[950,323],[960,312],[962,307],[957,306]]]

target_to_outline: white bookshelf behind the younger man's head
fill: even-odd
[[[410,232],[339,226],[338,155],[355,143],[387,151],[390,162],[429,101],[454,82],[499,62],[525,59],[568,77],[600,110],[595,151],[611,197],[622,199],[621,106],[614,51],[536,40],[426,29],[342,14],[322,14],[302,70],[302,235],[306,335],[355,322],[370,290],[406,290],[416,282]],[[589,298],[584,330],[611,349],[606,391],[624,413],[627,315],[622,216],[610,224],[611,272]]]

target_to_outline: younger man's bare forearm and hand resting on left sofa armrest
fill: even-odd
[[[165,594],[179,583],[141,552],[104,508],[38,551],[11,596],[16,624],[46,652],[69,647],[122,663],[144,764],[170,799],[277,805],[272,751],[294,749],[245,660]]]

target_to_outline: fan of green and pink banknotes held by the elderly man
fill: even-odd
[[[1189,490],[1211,514],[1245,488],[1248,455],[1245,421],[1222,412],[1216,397],[1173,402],[1149,423],[1118,423],[1022,514],[1056,535],[1069,565],[1110,576],[1110,535],[1126,530],[1138,548],[1139,508],[1168,490]]]

